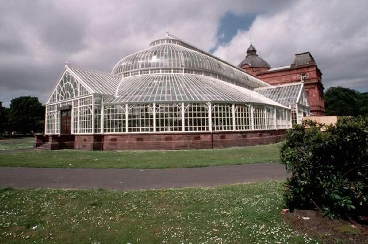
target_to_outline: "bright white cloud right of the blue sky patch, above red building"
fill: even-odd
[[[277,67],[310,51],[325,87],[368,90],[368,2],[295,1],[279,12],[260,14],[247,32],[238,32],[215,55],[237,65],[252,36],[261,57]]]

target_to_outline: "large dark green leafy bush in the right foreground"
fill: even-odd
[[[368,214],[367,119],[304,121],[287,131],[280,155],[291,174],[284,192],[290,210],[318,207],[330,218]]]

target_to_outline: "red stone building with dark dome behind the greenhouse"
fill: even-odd
[[[247,50],[247,56],[238,67],[270,85],[303,81],[311,113],[314,116],[325,115],[322,72],[310,52],[296,54],[291,65],[278,68],[271,68],[256,53],[257,50],[251,43]]]

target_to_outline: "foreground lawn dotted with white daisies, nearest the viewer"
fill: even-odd
[[[316,243],[281,216],[282,182],[118,192],[0,190],[0,243]]]

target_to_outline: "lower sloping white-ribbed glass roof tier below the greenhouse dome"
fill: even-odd
[[[121,102],[237,102],[283,107],[255,91],[197,74],[147,74],[124,77],[115,98]]]

